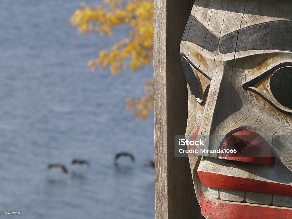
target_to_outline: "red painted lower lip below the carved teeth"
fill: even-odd
[[[201,214],[212,219],[291,219],[292,209],[270,208],[268,206],[243,205],[234,202],[208,201],[205,194],[200,199]]]

